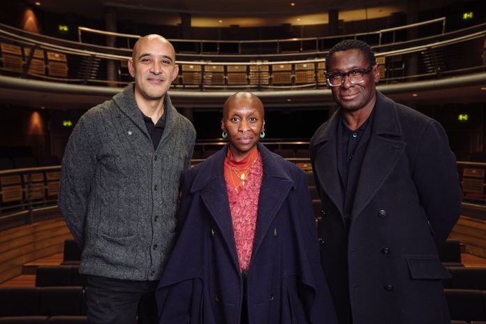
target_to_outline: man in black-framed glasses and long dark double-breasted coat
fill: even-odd
[[[375,89],[367,43],[335,45],[326,69],[339,108],[311,139],[311,162],[339,323],[450,323],[437,246],[459,218],[461,193],[447,135]]]

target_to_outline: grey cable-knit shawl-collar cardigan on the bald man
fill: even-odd
[[[196,131],[166,94],[154,150],[133,87],[78,121],[62,161],[59,209],[81,246],[82,274],[157,280],[172,249],[179,181]]]

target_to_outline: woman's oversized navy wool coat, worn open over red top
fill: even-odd
[[[240,324],[245,283],[223,175],[227,150],[184,175],[177,243],[156,293],[160,323]],[[249,323],[337,323],[304,172],[263,145],[258,151],[263,179],[246,279]]]

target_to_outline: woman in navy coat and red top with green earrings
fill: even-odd
[[[230,96],[229,144],[184,175],[160,323],[337,323],[305,173],[258,143],[264,125],[256,96]]]

